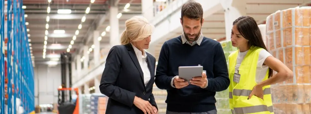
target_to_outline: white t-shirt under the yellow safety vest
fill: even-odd
[[[248,50],[245,52],[239,52],[239,56],[236,60],[235,71],[237,71],[244,59],[245,55],[247,54]],[[261,50],[259,52],[259,58],[257,62],[257,69],[256,69],[256,83],[262,82],[263,78],[265,78],[268,66],[263,65],[263,62],[267,59],[267,57],[272,56],[267,50]]]

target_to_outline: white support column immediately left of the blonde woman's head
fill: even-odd
[[[120,45],[119,19],[117,18],[119,11],[117,6],[110,7],[110,45]]]

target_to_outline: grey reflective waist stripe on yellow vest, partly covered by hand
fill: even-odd
[[[248,96],[252,90],[246,90],[246,89],[233,89],[233,92],[229,92],[229,98],[233,98],[234,96]],[[263,90],[263,95],[271,94],[270,88],[265,88]]]

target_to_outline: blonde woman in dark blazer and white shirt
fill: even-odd
[[[122,45],[110,49],[100,80],[100,92],[109,97],[106,114],[157,114],[152,94],[156,59],[145,51],[154,26],[140,16],[125,26]]]

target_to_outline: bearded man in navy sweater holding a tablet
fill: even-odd
[[[201,33],[203,9],[197,2],[185,3],[180,22],[183,34],[165,41],[160,51],[155,83],[167,90],[166,114],[216,114],[216,92],[230,84],[228,68],[219,42]],[[202,77],[190,84],[178,77],[179,66],[203,66]]]

